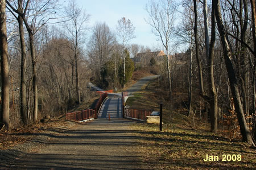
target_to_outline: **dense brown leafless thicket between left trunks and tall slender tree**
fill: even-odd
[[[41,63],[39,85],[44,101],[44,111],[66,111],[75,104],[72,95],[72,42],[64,38],[48,38],[43,50],[44,60]],[[72,57],[71,57],[72,56]],[[85,79],[86,74],[81,76]]]

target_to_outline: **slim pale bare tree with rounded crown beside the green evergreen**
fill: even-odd
[[[125,82],[125,58],[126,58],[125,49],[127,48],[127,45],[129,44],[130,40],[135,38],[134,30],[135,30],[135,27],[133,26],[133,23],[131,23],[130,19],[126,19],[125,17],[122,17],[121,19],[118,20],[117,36],[123,46],[123,55],[122,55],[123,82]],[[125,84],[123,84],[123,88],[125,88]]]

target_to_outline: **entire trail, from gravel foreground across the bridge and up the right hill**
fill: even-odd
[[[137,92],[156,77],[144,77],[127,91]],[[142,169],[139,132],[122,119],[121,105],[121,95],[112,94],[92,122],[64,121],[39,134],[20,134],[32,140],[1,151],[0,169]]]

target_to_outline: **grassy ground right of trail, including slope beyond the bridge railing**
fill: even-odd
[[[158,110],[161,92],[153,93],[156,82],[144,86],[142,92],[130,97],[127,105],[136,109]],[[136,123],[140,150],[145,168],[150,169],[253,169],[256,168],[256,151],[243,142],[231,141],[221,134],[209,132],[209,123],[191,118],[184,110],[175,110],[170,115],[168,103],[164,103],[163,131],[157,125]],[[171,122],[171,123],[170,123]],[[218,161],[203,161],[206,154],[218,156]],[[222,161],[222,155],[241,155],[241,161]]]

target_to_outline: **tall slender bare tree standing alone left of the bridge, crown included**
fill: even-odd
[[[76,96],[77,102],[81,103],[80,95],[80,85],[79,85],[79,71],[78,71],[78,59],[79,46],[84,42],[84,36],[86,27],[85,24],[88,22],[90,15],[86,14],[86,11],[80,8],[75,0],[69,2],[68,7],[65,7],[65,13],[71,18],[68,23],[65,23],[65,29],[67,30],[66,37],[72,42],[71,47],[74,51],[74,61],[75,61],[75,73],[76,73]],[[73,77],[72,77],[73,78]]]

